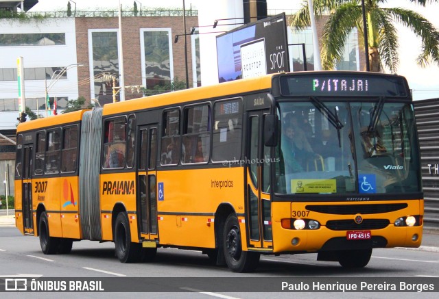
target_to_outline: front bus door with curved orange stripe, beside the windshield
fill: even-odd
[[[272,248],[271,148],[263,143],[263,121],[268,112],[264,109],[248,114],[246,200],[249,248]]]

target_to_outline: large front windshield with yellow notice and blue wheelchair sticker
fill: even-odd
[[[279,100],[277,113],[277,194],[420,192],[411,104]]]

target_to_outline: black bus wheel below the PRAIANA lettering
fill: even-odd
[[[126,213],[117,214],[115,244],[117,258],[122,263],[136,263],[141,259],[141,244],[131,242],[130,222]]]

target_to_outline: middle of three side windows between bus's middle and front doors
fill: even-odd
[[[210,109],[209,105],[185,109],[185,127],[183,127],[182,163],[202,163],[209,161]]]

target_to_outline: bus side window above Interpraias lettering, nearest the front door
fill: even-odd
[[[213,106],[212,160],[230,161],[241,157],[241,101],[221,101]]]

